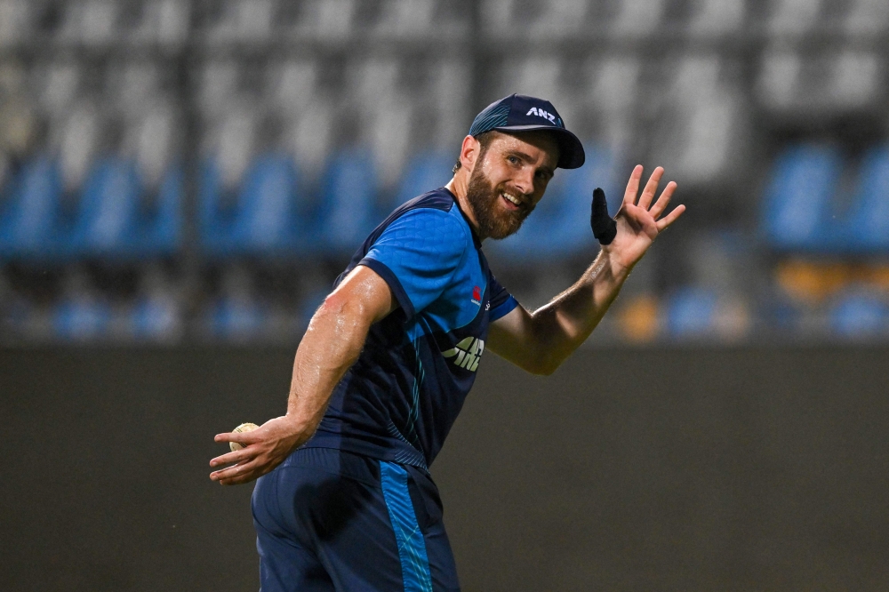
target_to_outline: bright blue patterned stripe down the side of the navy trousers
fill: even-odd
[[[404,592],[432,592],[426,540],[417,523],[411,495],[407,492],[407,471],[394,462],[380,460],[380,480],[398,544]]]

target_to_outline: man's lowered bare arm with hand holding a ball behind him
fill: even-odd
[[[333,387],[355,363],[371,325],[397,306],[388,284],[371,268],[359,265],[312,316],[293,362],[287,414],[252,432],[219,434],[216,442],[244,448],[210,461],[221,468],[210,478],[223,485],[243,484],[276,468],[308,441],[324,417]]]

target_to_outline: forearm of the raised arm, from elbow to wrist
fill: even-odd
[[[570,288],[532,314],[533,332],[553,370],[581,346],[629,276],[605,250]]]

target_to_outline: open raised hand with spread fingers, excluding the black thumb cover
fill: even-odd
[[[633,268],[637,261],[642,259],[654,239],[685,212],[685,205],[680,204],[661,218],[677,185],[674,181],[670,181],[661,192],[661,196],[654,201],[654,194],[657,193],[658,184],[664,173],[663,168],[659,166],[654,169],[640,196],[639,182],[642,180],[642,170],[642,165],[637,164],[629,176],[621,210],[614,217],[616,233],[610,244],[602,244],[603,251],[608,253],[612,262],[626,269]],[[605,194],[602,196],[604,198]]]

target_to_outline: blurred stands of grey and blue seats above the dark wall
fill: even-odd
[[[889,339],[883,0],[2,0],[0,339],[295,344],[473,116],[552,100],[588,164],[485,245],[525,306],[589,196],[689,206],[594,343]]]

